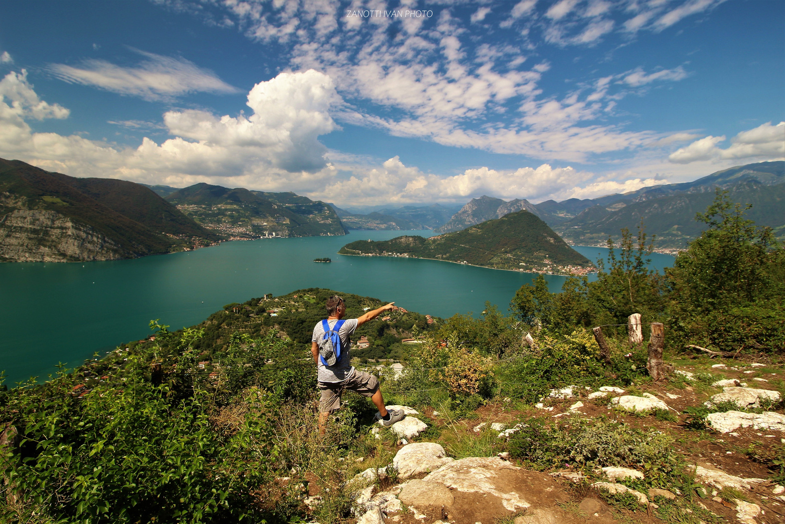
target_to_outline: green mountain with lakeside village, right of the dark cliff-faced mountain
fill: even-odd
[[[291,192],[195,184],[166,200],[207,229],[232,239],[346,234],[334,209]]]

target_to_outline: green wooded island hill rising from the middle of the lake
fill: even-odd
[[[383,242],[359,240],[343,246],[338,253],[428,258],[495,269],[558,274],[585,273],[593,267],[545,222],[526,210],[431,238],[400,236]]]

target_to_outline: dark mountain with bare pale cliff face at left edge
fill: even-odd
[[[0,260],[116,260],[218,238],[139,184],[0,158]]]

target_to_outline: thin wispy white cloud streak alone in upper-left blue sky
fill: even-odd
[[[196,92],[239,92],[214,72],[184,58],[133,50],[146,60],[136,66],[122,67],[106,60],[88,59],[79,66],[50,64],[49,71],[65,82],[96,86],[121,95],[139,96],[144,100],[172,100]]]

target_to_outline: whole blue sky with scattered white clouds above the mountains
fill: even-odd
[[[0,156],[343,206],[785,158],[785,2],[0,1]]]

